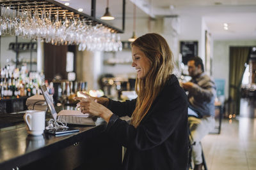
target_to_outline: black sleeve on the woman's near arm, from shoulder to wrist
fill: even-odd
[[[181,88],[162,94],[137,128],[113,115],[115,121],[109,121],[107,131],[127,148],[148,150],[161,145],[188,118],[188,101]]]

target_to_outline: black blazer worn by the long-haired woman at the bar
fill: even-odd
[[[172,75],[137,128],[119,117],[131,117],[132,101],[109,101],[114,113],[106,131],[127,148],[123,169],[185,170],[188,164],[188,101]]]

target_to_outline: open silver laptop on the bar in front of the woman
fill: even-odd
[[[83,113],[76,110],[61,110],[58,114],[54,108],[53,101],[47,91],[47,87],[42,85],[40,87],[42,94],[45,98],[45,101],[48,105],[49,110],[51,111],[52,117],[54,120],[64,120],[67,124],[72,125],[95,125],[95,122],[91,117],[85,117]]]

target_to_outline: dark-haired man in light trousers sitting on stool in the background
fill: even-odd
[[[212,78],[204,73],[204,64],[200,57],[189,59],[188,71],[192,79],[181,85],[189,92],[188,121],[191,132],[190,141],[193,144],[192,157],[195,170],[200,170],[203,162],[200,141],[215,127],[216,87]]]

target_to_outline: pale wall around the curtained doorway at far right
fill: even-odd
[[[213,76],[225,79],[225,98],[228,97],[229,83],[229,47],[230,46],[255,46],[256,41],[214,41],[213,43]]]

